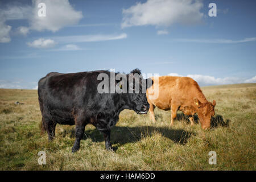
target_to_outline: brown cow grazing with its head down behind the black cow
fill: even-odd
[[[147,89],[147,101],[150,104],[150,118],[155,122],[154,108],[163,110],[171,109],[171,125],[174,124],[177,111],[180,110],[189,116],[191,125],[194,125],[193,115],[197,113],[201,127],[208,129],[210,119],[215,114],[216,102],[208,102],[195,80],[189,77],[160,76],[159,81],[151,77],[154,84]],[[150,100],[148,96],[156,94],[158,87],[158,98]],[[150,95],[149,95],[150,93]]]

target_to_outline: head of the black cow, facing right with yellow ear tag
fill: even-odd
[[[147,84],[147,79],[143,79],[139,69],[134,69],[127,75],[126,104],[137,114],[146,114],[150,107],[146,97],[148,85],[152,84]]]

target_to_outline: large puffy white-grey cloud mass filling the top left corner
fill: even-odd
[[[46,17],[38,16],[38,4],[46,4]],[[7,20],[27,19],[30,27],[19,27],[18,33],[27,35],[30,30],[56,32],[63,27],[73,26],[82,18],[82,12],[73,9],[68,0],[32,0],[32,5],[9,3],[0,8],[0,43],[11,41],[11,26]]]

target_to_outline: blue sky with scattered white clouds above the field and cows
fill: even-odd
[[[46,5],[46,17],[37,7]],[[209,3],[217,5],[210,17]],[[0,88],[35,89],[48,72],[115,69],[256,82],[255,1],[1,1]]]

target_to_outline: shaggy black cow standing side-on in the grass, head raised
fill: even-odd
[[[85,126],[91,123],[104,134],[106,149],[112,150],[110,128],[117,123],[119,113],[124,109],[134,110],[137,114],[147,113],[149,104],[146,93],[141,92],[141,79],[139,93],[99,93],[97,87],[101,82],[98,80],[100,73],[110,77],[109,71],[68,74],[51,72],[39,80],[38,96],[42,113],[42,132],[47,131],[49,140],[55,137],[57,123],[76,125],[76,140],[72,147],[72,152],[75,152],[80,148]],[[137,74],[134,73],[141,75],[139,69],[134,69],[125,77],[129,80],[128,77],[132,75],[135,85],[136,82],[138,84],[138,79],[135,76]],[[115,81],[115,85],[120,83]]]

